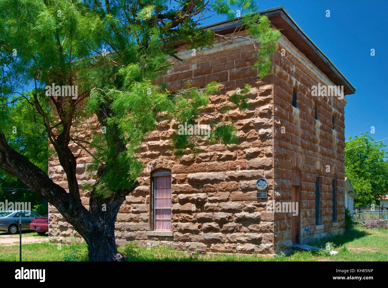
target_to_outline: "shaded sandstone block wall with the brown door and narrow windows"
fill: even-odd
[[[282,49],[286,52],[282,53]],[[305,243],[315,236],[341,233],[345,219],[346,100],[312,96],[313,85],[335,84],[283,36],[273,61],[275,200],[291,201],[291,170],[296,167],[301,172],[300,242]],[[297,93],[296,108],[291,105],[294,91]],[[323,228],[315,225],[315,177],[318,175],[321,177],[320,214]],[[337,183],[337,222],[334,224],[333,179]],[[275,250],[290,248],[291,213],[277,213],[274,217]]]

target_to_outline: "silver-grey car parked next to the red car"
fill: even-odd
[[[8,231],[10,234],[16,234],[19,231],[19,217],[22,216],[22,231],[29,230],[29,224],[34,217],[40,217],[39,214],[28,211],[4,211],[0,212],[0,231]]]

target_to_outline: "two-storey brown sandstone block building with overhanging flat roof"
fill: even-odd
[[[225,87],[211,96],[212,109],[228,101],[238,87],[252,85],[248,110],[223,115],[236,121],[239,144],[203,141],[198,155],[177,160],[169,150],[176,130],[173,123],[163,122],[142,144],[146,168],[139,175],[139,187],[118,213],[118,245],[136,241],[181,250],[272,254],[293,243],[343,232],[345,95],[355,88],[286,10],[277,7],[262,13],[282,29],[272,56],[274,71],[263,79],[252,69],[254,47],[249,40],[218,39],[196,56],[184,44],[179,48],[184,62],[173,64],[160,80],[170,91],[188,80],[195,87],[221,82]],[[221,22],[208,28],[227,34],[237,24]],[[314,87],[334,86],[343,95],[312,95]],[[201,118],[199,124],[208,121]],[[90,156],[85,153],[78,159],[80,184],[93,183],[85,172]],[[50,159],[51,177],[67,188],[60,169],[58,161]],[[259,190],[256,182],[261,178],[267,187]],[[87,196],[82,201],[87,207]],[[277,211],[279,202],[298,203],[297,213]],[[51,241],[79,236],[54,207],[49,213]]]

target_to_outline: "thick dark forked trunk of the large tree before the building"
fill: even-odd
[[[14,175],[25,186],[50,202],[63,215],[88,244],[89,261],[123,261],[126,255],[119,253],[114,238],[114,223],[125,196],[132,189],[112,192],[104,199],[90,197],[90,211],[48,175],[31,163],[25,156],[9,147],[4,134],[0,133],[0,168]],[[69,183],[70,186],[71,183]],[[106,209],[102,209],[102,205]]]

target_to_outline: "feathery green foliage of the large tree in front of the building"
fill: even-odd
[[[162,121],[195,125],[201,116],[210,119],[206,140],[204,135],[172,137],[177,156],[188,150],[197,153],[203,142],[238,144],[233,121],[225,121],[221,113],[248,108],[250,87],[232,95],[231,104],[209,112],[209,98],[223,93],[220,83],[177,94],[166,90],[165,83],[154,85],[171,68],[171,57],[180,60],[178,43],[188,49],[213,45],[217,35],[199,27],[201,19],[214,13],[233,19],[236,7],[256,41],[254,69],[263,77],[271,71],[270,56],[280,33],[270,28],[266,17],[253,14],[257,6],[251,0],[183,0],[173,5],[168,0],[0,0],[0,133],[43,173],[50,142],[55,156],[62,157],[70,197],[79,192],[74,183],[78,153],[89,153],[94,161],[87,169],[97,181],[84,189],[99,200],[132,191],[144,168],[141,143]],[[29,93],[15,92],[25,90],[26,83]],[[45,87],[52,83],[76,85],[78,98],[47,95]],[[79,151],[71,155],[68,148],[74,146]],[[35,207],[43,210],[40,204]],[[79,258],[74,251],[66,259]]]

